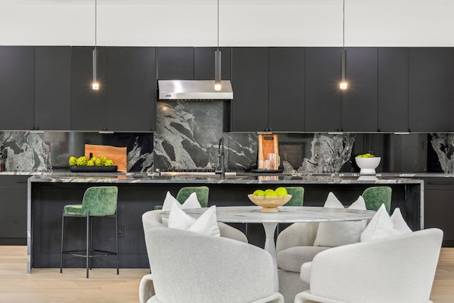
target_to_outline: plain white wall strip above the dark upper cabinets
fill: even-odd
[[[341,46],[342,0],[220,0],[219,44]],[[216,0],[98,0],[98,45],[216,45]],[[345,46],[453,46],[454,0],[345,0]],[[0,0],[0,45],[94,45],[94,0]]]

